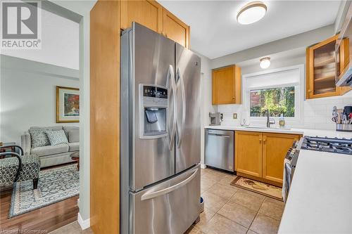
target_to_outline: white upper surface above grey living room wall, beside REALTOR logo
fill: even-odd
[[[42,48],[1,50],[1,54],[79,69],[79,24],[42,9]]]

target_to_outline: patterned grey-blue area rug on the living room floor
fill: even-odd
[[[76,164],[40,171],[38,188],[32,180],[15,183],[9,218],[46,207],[80,193],[80,171]]]

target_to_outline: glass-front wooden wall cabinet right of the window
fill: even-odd
[[[344,39],[339,54],[335,53],[335,44],[339,35],[331,37],[306,50],[306,98],[323,98],[339,96],[350,88],[337,87],[335,77],[337,72],[348,65],[348,41]],[[347,39],[348,40],[348,39]],[[339,59],[336,65],[335,59]],[[337,71],[337,69],[339,71]]]

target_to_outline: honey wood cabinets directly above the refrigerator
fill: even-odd
[[[153,0],[121,1],[121,29],[138,22],[163,34],[186,48],[189,44],[189,26]]]

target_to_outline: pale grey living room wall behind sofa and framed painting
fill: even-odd
[[[78,88],[78,74],[65,67],[1,56],[0,141],[20,145],[20,135],[30,126],[67,125],[56,124],[56,86]]]

